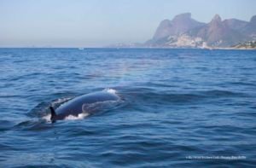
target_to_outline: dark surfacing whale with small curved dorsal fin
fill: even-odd
[[[50,109],[50,120],[55,122],[56,120],[66,119],[68,116],[79,116],[80,113],[90,113],[88,107],[94,103],[108,102],[108,101],[119,101],[114,91],[102,90],[93,92],[84,96],[78,96],[73,98],[71,101],[67,101],[60,107]]]

